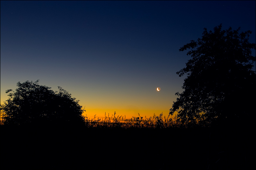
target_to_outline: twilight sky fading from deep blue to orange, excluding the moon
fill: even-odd
[[[1,104],[18,82],[39,79],[89,118],[167,117],[191,58],[179,49],[220,23],[251,30],[255,43],[255,2],[1,1]]]

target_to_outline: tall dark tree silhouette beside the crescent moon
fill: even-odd
[[[255,44],[248,42],[251,31],[239,34],[240,27],[231,29],[221,31],[221,24],[214,32],[204,28],[202,38],[179,49],[195,49],[188,51],[192,59],[177,72],[187,78],[170,109],[171,115],[178,112],[182,123],[248,122],[255,117],[255,56],[251,55]]]

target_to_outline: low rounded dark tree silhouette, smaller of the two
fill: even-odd
[[[9,99],[1,105],[4,124],[79,124],[84,122],[82,106],[79,100],[71,98],[66,90],[58,86],[59,91],[51,87],[26,81],[17,83],[16,92],[6,90]]]

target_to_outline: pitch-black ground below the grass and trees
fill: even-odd
[[[1,126],[1,169],[251,169],[250,129]]]

